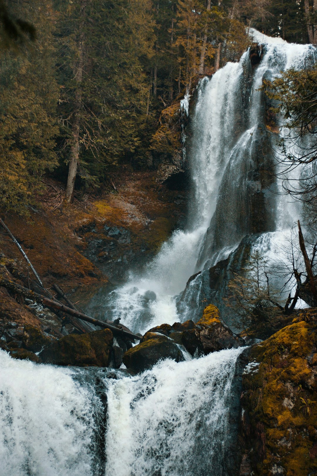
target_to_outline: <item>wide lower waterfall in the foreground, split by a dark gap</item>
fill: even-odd
[[[1,476],[232,475],[242,351],[116,379],[0,351]]]

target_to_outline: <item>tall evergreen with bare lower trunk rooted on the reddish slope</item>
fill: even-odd
[[[153,54],[148,0],[81,0],[60,22],[62,87],[59,114],[63,155],[69,164],[66,200],[72,201],[77,171],[88,182],[104,176],[141,147],[149,109],[143,63]]]

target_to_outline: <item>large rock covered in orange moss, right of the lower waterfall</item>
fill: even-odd
[[[242,466],[248,475],[317,474],[315,318],[250,349],[241,399]]]

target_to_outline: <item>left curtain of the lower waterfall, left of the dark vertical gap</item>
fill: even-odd
[[[1,476],[90,474],[92,398],[71,370],[14,360],[0,350]]]

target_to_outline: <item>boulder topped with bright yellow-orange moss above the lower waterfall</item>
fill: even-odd
[[[202,318],[196,323],[195,334],[198,338],[198,349],[204,355],[244,345],[243,339],[221,322],[219,310],[212,304],[205,307]]]

